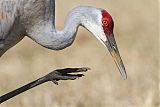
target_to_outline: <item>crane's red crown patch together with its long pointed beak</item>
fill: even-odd
[[[114,28],[113,19],[106,10],[102,10],[101,14],[102,14],[101,23],[104,32],[103,35],[104,37],[103,38],[100,37],[100,41],[103,43],[103,45],[105,45],[108,48],[111,56],[113,57],[119,69],[122,78],[126,79],[127,78],[126,70],[123,61],[121,59],[121,56],[119,54],[118,47],[113,34],[113,28]]]

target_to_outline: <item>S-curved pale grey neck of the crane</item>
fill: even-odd
[[[51,20],[43,20],[31,27],[28,35],[46,48],[61,50],[73,43],[82,19],[79,12],[71,11],[62,30],[56,30]]]

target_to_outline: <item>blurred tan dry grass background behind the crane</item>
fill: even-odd
[[[57,0],[56,26],[78,5],[108,10],[128,79],[122,80],[113,59],[89,32],[79,29],[74,44],[62,51],[45,49],[23,39],[0,59],[0,94],[16,89],[49,71],[88,66],[92,71],[59,86],[43,84],[0,107],[158,107],[158,1]]]

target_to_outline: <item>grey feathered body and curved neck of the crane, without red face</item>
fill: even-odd
[[[66,48],[74,41],[79,25],[92,33],[97,30],[97,17],[101,14],[94,7],[76,7],[68,14],[64,28],[58,31],[54,25],[54,0],[2,0],[0,7],[0,14],[6,16],[0,20],[0,56],[25,35],[49,49]]]

